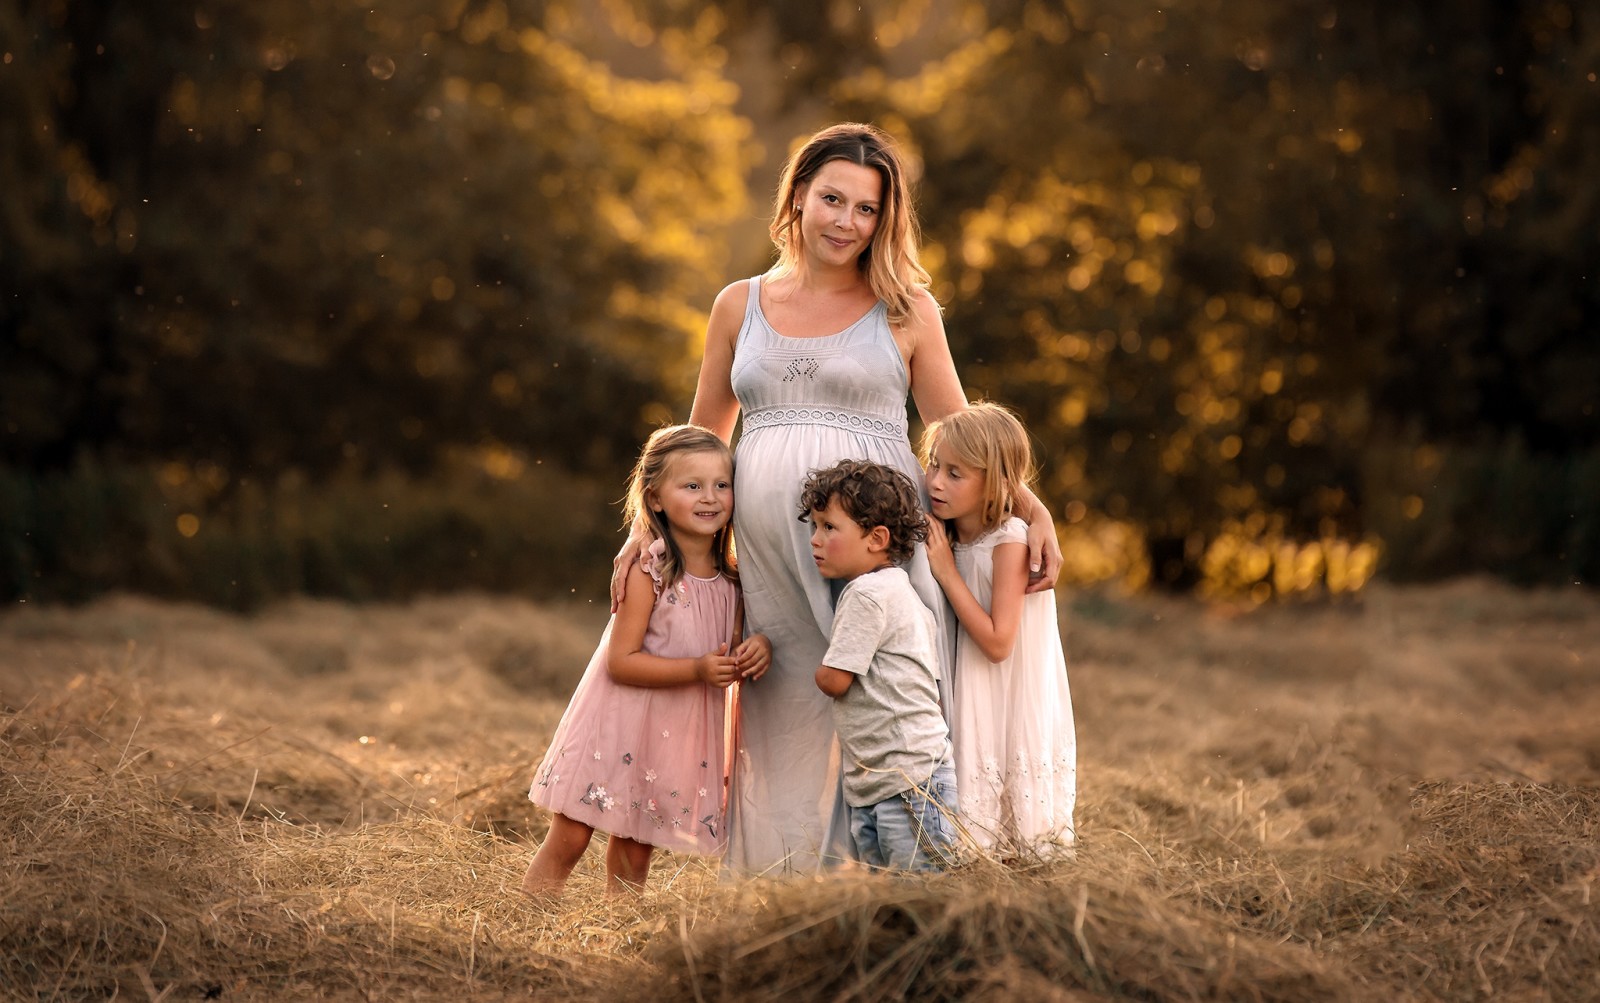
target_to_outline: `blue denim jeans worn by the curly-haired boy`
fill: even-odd
[[[850,809],[856,856],[874,870],[944,870],[955,864],[955,766],[941,763],[877,805]]]

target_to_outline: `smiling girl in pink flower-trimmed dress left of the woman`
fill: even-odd
[[[658,846],[722,851],[726,688],[771,662],[765,637],[741,637],[731,515],[728,446],[696,426],[658,429],[624,512],[650,545],[528,792],[554,816],[525,893],[558,894],[595,829],[610,833],[610,891],[642,888]]]

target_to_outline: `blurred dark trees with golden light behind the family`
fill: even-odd
[[[838,118],[920,163],[1074,581],[1594,581],[1595,19],[0,0],[0,589],[594,587]]]

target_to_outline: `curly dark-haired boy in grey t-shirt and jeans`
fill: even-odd
[[[811,557],[843,579],[818,688],[834,697],[856,853],[874,869],[955,862],[955,769],[939,710],[933,613],[898,565],[928,529],[917,488],[867,461],[814,470],[800,494]]]

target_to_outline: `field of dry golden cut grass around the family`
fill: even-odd
[[[1600,998],[1600,595],[1062,598],[1080,849],[933,880],[517,883],[594,606],[0,616],[26,1000]]]

